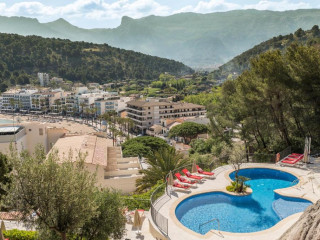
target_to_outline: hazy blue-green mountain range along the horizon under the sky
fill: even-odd
[[[320,10],[285,12],[236,10],[209,14],[123,17],[113,29],[82,29],[63,19],[1,17],[0,32],[107,43],[154,56],[175,59],[196,68],[217,67],[256,44],[298,28],[320,24]]]

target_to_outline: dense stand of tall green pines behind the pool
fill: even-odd
[[[262,53],[252,59],[250,70],[212,94],[209,115],[221,129],[238,128],[239,137],[252,149],[269,153],[292,146],[303,152],[304,139],[310,136],[312,151],[320,150],[317,47],[293,44],[284,52]]]

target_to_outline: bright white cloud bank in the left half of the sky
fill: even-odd
[[[170,8],[154,0],[76,0],[64,6],[53,7],[40,2],[20,2],[11,6],[0,5],[0,14],[5,16],[33,16],[42,19],[51,17],[85,17],[96,20],[118,19],[124,15],[139,18],[150,14],[168,15]]]

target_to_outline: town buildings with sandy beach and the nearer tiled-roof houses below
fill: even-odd
[[[97,83],[74,84],[71,91],[67,91],[49,87],[52,81],[63,85],[61,78],[50,79],[48,74],[39,73],[38,79],[40,87],[17,86],[2,93],[1,113],[10,114],[15,120],[0,127],[0,150],[7,152],[14,140],[19,151],[25,149],[32,153],[36,145],[41,144],[46,153],[59,149],[61,158],[70,149],[85,151],[87,168],[95,172],[98,167],[98,183],[104,187],[117,186],[125,193],[135,190],[135,180],[142,176],[139,173],[142,163],[137,157],[123,157],[120,147],[123,141],[111,134],[110,126],[104,121],[105,114],[112,112],[131,119],[130,136],[157,136],[185,154],[190,146],[182,138],[169,139],[170,129],[183,122],[209,122],[206,109],[201,105],[136,94],[120,96]],[[23,119],[20,122],[19,117]],[[68,130],[69,125],[73,129]],[[114,127],[121,129],[119,124]],[[85,131],[86,128],[91,130]]]

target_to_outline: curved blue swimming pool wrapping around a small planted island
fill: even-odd
[[[240,176],[250,178],[247,184],[252,194],[233,196],[224,192],[209,192],[191,196],[176,207],[178,220],[187,228],[201,234],[211,229],[234,233],[257,232],[274,226],[283,218],[302,212],[310,201],[280,196],[273,190],[298,183],[287,172],[268,168],[248,168],[239,171]],[[230,174],[234,179],[234,172]],[[211,221],[211,222],[210,222]],[[207,224],[204,224],[209,222]],[[202,225],[204,224],[204,225]]]

